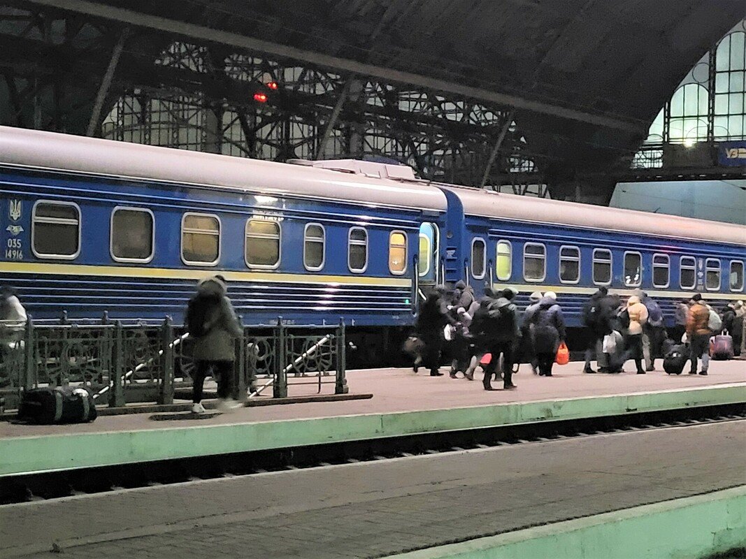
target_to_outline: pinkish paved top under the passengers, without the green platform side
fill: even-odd
[[[658,361],[660,364],[661,361]],[[333,417],[353,414],[381,414],[399,411],[421,411],[442,408],[462,408],[510,402],[536,402],[578,397],[639,394],[651,391],[675,391],[690,388],[743,383],[746,385],[746,361],[713,361],[709,376],[668,376],[662,370],[646,375],[622,373],[618,375],[582,373],[582,363],[555,367],[551,378],[539,377],[527,365],[514,376],[516,391],[484,391],[480,381],[431,377],[415,374],[411,369],[380,369],[348,372],[351,392],[373,394],[372,399],[345,402],[313,402],[293,405],[272,405],[242,408],[231,414],[221,414],[195,423],[210,426],[226,423],[254,423],[257,421]],[[627,367],[631,370],[630,367]],[[447,368],[442,368],[447,373]],[[481,375],[481,373],[480,373]],[[479,375],[479,376],[480,376]],[[481,376],[480,376],[481,378]],[[501,382],[493,382],[501,387]],[[58,435],[79,432],[113,432],[142,429],[166,429],[185,426],[181,421],[152,421],[150,414],[99,417],[95,423],[68,426],[22,426],[0,422],[0,438],[34,435]]]

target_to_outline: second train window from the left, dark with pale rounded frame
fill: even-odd
[[[153,259],[154,218],[149,209],[114,208],[111,213],[111,257],[117,262]]]

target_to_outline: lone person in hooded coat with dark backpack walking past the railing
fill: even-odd
[[[194,340],[192,413],[195,414],[204,413],[202,387],[205,377],[210,374],[218,382],[218,408],[236,407],[236,402],[231,399],[233,361],[236,360],[235,341],[243,335],[243,330],[227,291],[222,276],[202,279],[197,285],[197,294],[189,300],[186,309],[186,328]]]

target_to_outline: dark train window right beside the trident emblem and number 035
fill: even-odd
[[[81,209],[71,202],[34,204],[31,247],[39,258],[73,259],[81,250]]]

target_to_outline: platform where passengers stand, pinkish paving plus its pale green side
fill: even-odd
[[[714,362],[709,376],[588,375],[582,366],[557,367],[552,378],[521,367],[517,391],[487,392],[480,382],[412,370],[366,370],[349,372],[348,383],[369,399],[263,405],[199,421],[127,414],[72,426],[0,422],[0,476],[746,402],[743,361]]]

